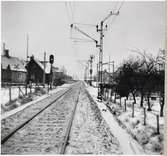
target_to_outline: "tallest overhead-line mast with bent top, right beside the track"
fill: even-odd
[[[103,37],[104,37],[104,30],[107,30],[107,25],[105,25],[104,29],[104,22],[109,19],[112,15],[119,15],[119,11],[116,13],[113,13],[112,11],[110,14],[105,17],[101,22],[100,22],[100,29],[99,25],[96,26],[97,32],[100,32],[100,45],[97,45],[99,47],[100,52],[99,52],[99,87],[98,87],[98,96],[97,98],[102,100],[102,83],[103,83]]]

